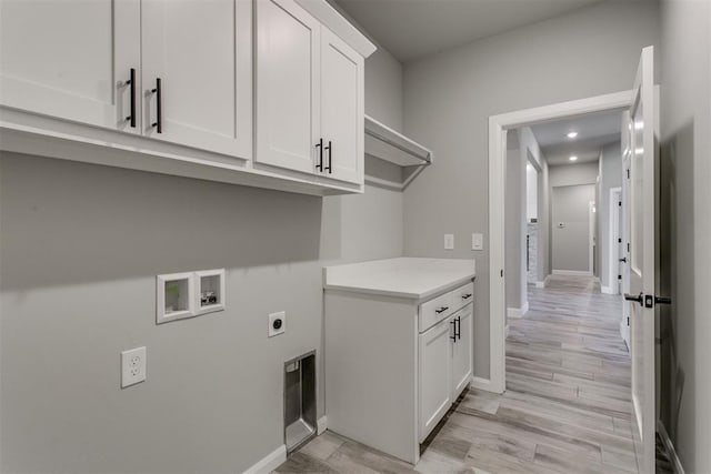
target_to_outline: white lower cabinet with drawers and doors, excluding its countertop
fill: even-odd
[[[428,297],[327,289],[329,430],[417,464],[472,376],[473,283]]]

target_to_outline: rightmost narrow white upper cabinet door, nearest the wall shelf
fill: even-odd
[[[323,28],[321,32],[321,134],[329,178],[363,181],[363,57]]]

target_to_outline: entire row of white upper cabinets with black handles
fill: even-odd
[[[326,0],[0,0],[0,150],[362,192],[374,49]]]

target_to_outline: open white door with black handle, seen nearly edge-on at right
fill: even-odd
[[[653,48],[642,50],[630,110],[630,294],[632,432],[638,468],[654,472],[655,127]]]

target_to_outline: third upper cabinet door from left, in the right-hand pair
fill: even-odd
[[[259,163],[312,173],[320,162],[320,32],[293,0],[257,1]]]

